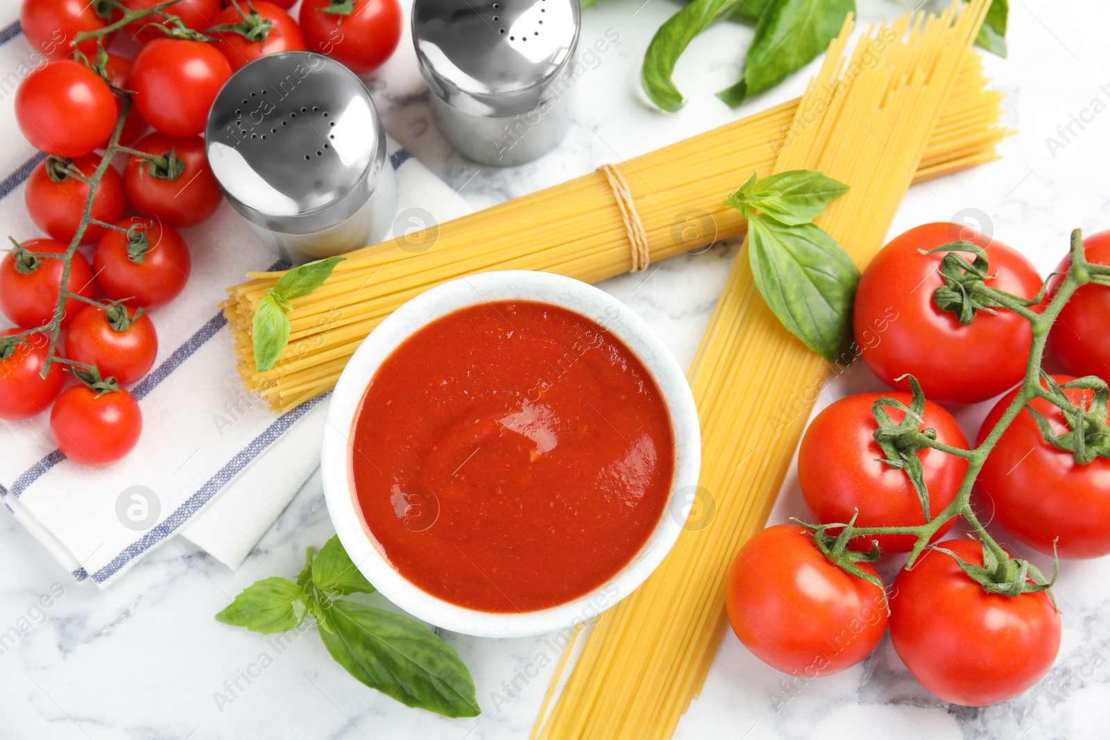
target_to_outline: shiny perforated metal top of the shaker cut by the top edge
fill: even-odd
[[[432,91],[477,115],[526,113],[574,61],[578,0],[416,0],[413,41]]]

